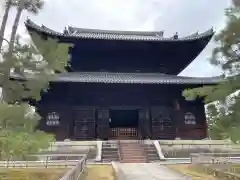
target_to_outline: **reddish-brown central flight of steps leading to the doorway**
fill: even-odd
[[[119,142],[121,163],[147,163],[144,147],[135,141]]]

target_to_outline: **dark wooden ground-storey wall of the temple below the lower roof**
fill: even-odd
[[[54,132],[58,140],[94,140],[124,138],[202,139],[206,137],[204,104],[185,101],[182,85],[134,84],[54,84],[43,95],[39,110],[43,116],[39,128]],[[68,87],[68,88],[66,88]],[[111,110],[138,111],[135,127],[110,127]],[[58,126],[48,126],[47,116],[56,112]],[[186,124],[192,113],[196,124]]]

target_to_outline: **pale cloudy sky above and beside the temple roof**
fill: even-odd
[[[229,5],[229,0],[46,0],[44,9],[38,15],[22,15],[18,33],[29,38],[24,27],[24,21],[29,17],[37,24],[57,31],[70,25],[112,30],[163,30],[165,36],[172,36],[175,32],[179,36],[187,36],[212,27],[215,30],[224,27],[224,9]],[[12,9],[6,37],[9,37],[15,13]],[[0,18],[2,15],[3,6],[0,7]],[[215,43],[211,41],[180,75],[219,75],[221,71],[207,60],[214,47]]]

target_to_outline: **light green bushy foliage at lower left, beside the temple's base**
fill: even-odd
[[[2,160],[26,160],[54,141],[52,135],[35,131],[40,117],[28,104],[2,103],[0,117]]]

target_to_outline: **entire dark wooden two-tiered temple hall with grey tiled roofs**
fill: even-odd
[[[37,105],[39,128],[57,140],[207,136],[202,99],[186,101],[182,91],[216,81],[177,74],[205,48],[212,30],[165,38],[159,32],[74,27],[59,33],[30,20],[26,27],[44,39],[73,44],[69,72],[53,80]]]

